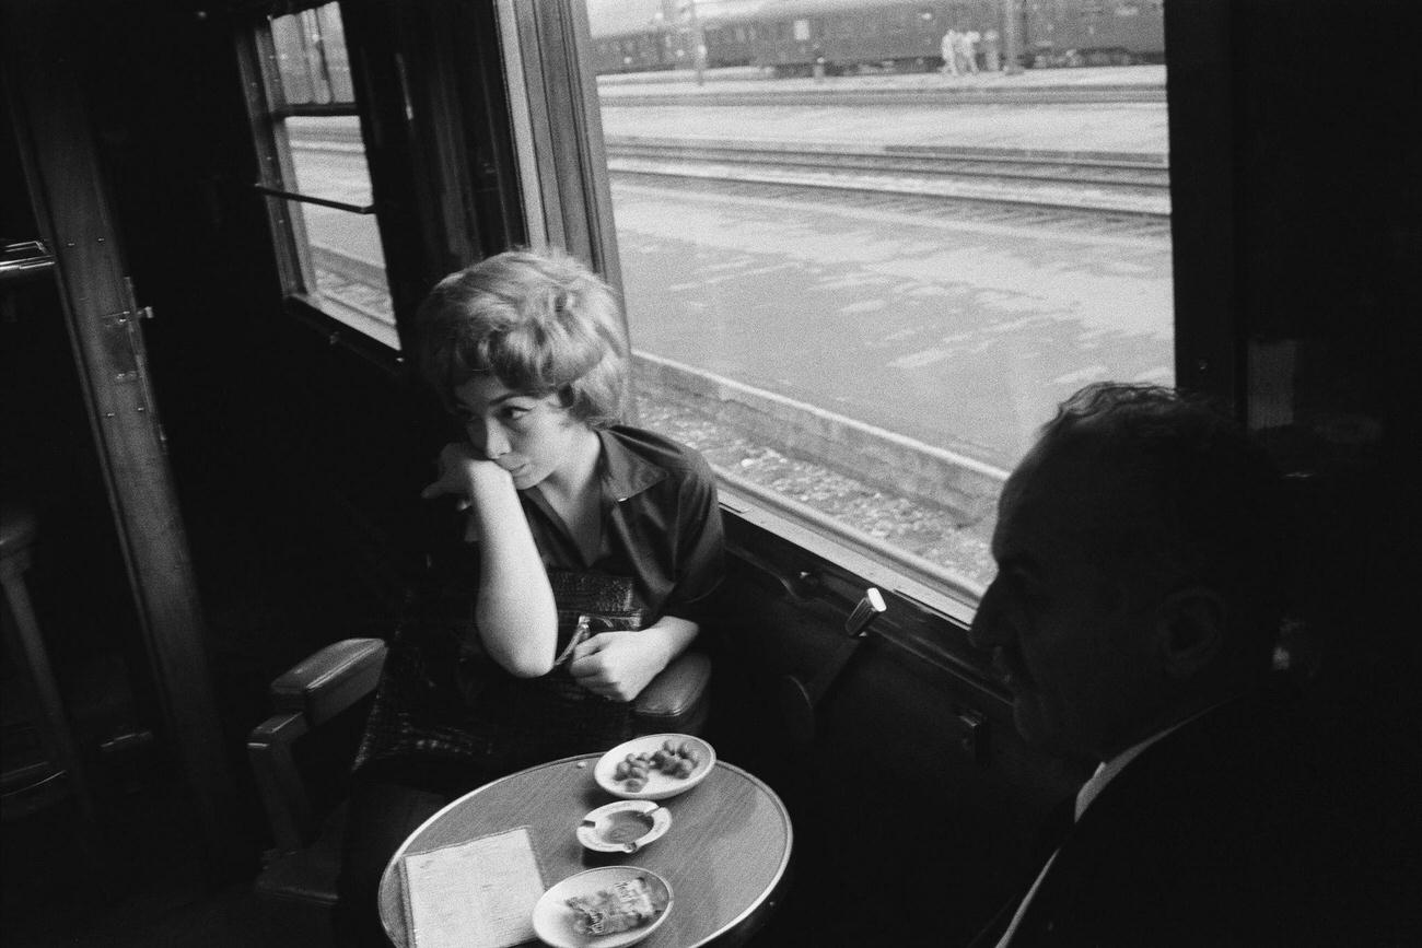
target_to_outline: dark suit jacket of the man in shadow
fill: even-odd
[[[1357,849],[1327,776],[1280,695],[1206,712],[1071,827],[1012,948],[1357,944],[1365,883],[1348,871]],[[974,948],[997,944],[1017,903]]]

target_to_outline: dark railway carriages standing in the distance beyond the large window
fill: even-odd
[[[1160,63],[1163,9],[1165,0],[1017,0],[1020,60]],[[923,72],[943,64],[948,28],[1005,33],[1000,0],[609,0],[590,4],[589,16],[600,74],[690,68],[698,37],[707,68]]]

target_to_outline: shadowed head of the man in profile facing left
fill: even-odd
[[[1170,389],[1089,385],[1008,479],[973,623],[1018,731],[1108,759],[1267,671],[1283,569],[1277,475]]]

